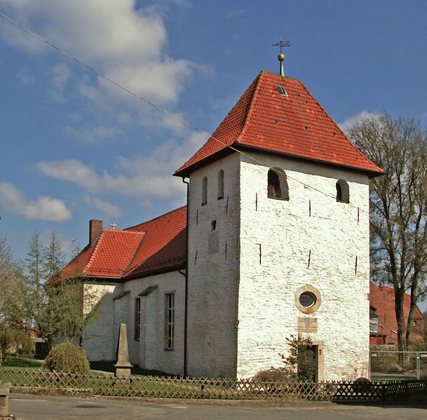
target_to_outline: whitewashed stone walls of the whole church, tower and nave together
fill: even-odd
[[[367,376],[367,176],[278,156],[257,158],[265,166],[231,154],[190,177],[187,374],[251,377],[279,366],[279,353],[288,351],[286,337],[309,319],[316,320],[317,332],[305,335],[322,351],[319,379]],[[267,198],[269,167],[286,171],[289,201]],[[220,200],[219,170],[224,170]],[[201,205],[203,177],[208,177],[206,205]],[[348,182],[350,204],[335,200],[338,179]],[[183,374],[184,281],[175,271],[115,288],[99,285],[100,317],[83,334],[90,360],[114,360],[118,324],[124,322],[131,363]],[[141,298],[140,339],[135,341],[135,299],[151,285],[158,287]],[[303,285],[320,291],[322,302],[314,313],[302,313],[295,305],[295,292]],[[121,292],[128,293],[113,299]],[[175,292],[173,351],[165,350],[164,341],[168,292]]]

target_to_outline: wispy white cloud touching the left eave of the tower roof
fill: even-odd
[[[134,159],[118,157],[116,173],[97,173],[85,163],[73,159],[42,161],[36,168],[43,175],[78,184],[95,194],[120,194],[140,198],[147,203],[154,198],[176,199],[184,186],[181,179],[172,177],[174,172],[191,154],[201,147],[205,138],[194,133],[181,144],[165,142],[147,156]]]

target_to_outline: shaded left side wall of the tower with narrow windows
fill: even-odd
[[[238,156],[232,154],[190,175],[189,375],[236,376],[238,169]],[[224,170],[221,200],[217,199],[219,170]],[[206,205],[201,205],[203,177],[208,177]]]

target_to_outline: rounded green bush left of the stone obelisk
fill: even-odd
[[[57,344],[50,350],[44,360],[43,367],[50,372],[67,372],[88,374],[90,371],[88,358],[83,348],[71,341]]]

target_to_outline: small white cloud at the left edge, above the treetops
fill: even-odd
[[[0,182],[0,204],[6,210],[27,219],[66,222],[72,218],[64,201],[49,196],[30,201],[22,191],[8,182]]]

